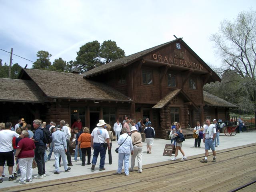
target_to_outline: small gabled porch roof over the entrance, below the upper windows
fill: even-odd
[[[191,104],[194,106],[194,108],[199,109],[198,106],[196,106],[196,104],[194,104],[194,102],[189,98],[188,95],[186,95],[186,93],[182,89],[176,89],[174,91],[171,91],[169,94],[167,94],[164,98],[162,98],[152,108],[163,108],[178,94],[182,94],[189,102],[191,102]]]

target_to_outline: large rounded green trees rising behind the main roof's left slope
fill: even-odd
[[[98,41],[88,42],[76,53],[74,68],[80,72],[86,72],[125,56],[124,50],[111,40],[104,41],[102,44]]]

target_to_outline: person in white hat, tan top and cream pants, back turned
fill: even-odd
[[[133,171],[135,166],[135,159],[138,160],[138,173],[142,173],[142,138],[141,134],[137,131],[135,126],[131,128],[131,138],[133,145],[133,155],[131,158],[131,171]]]

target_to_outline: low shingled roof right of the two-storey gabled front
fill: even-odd
[[[216,107],[232,107],[232,108],[236,108],[237,106],[227,102],[224,99],[221,99],[217,96],[214,96],[206,91],[204,91],[204,102],[208,105],[208,106],[216,106]]]

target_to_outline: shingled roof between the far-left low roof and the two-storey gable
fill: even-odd
[[[30,78],[49,98],[131,101],[114,88],[86,80],[81,74],[22,69],[19,78]]]

